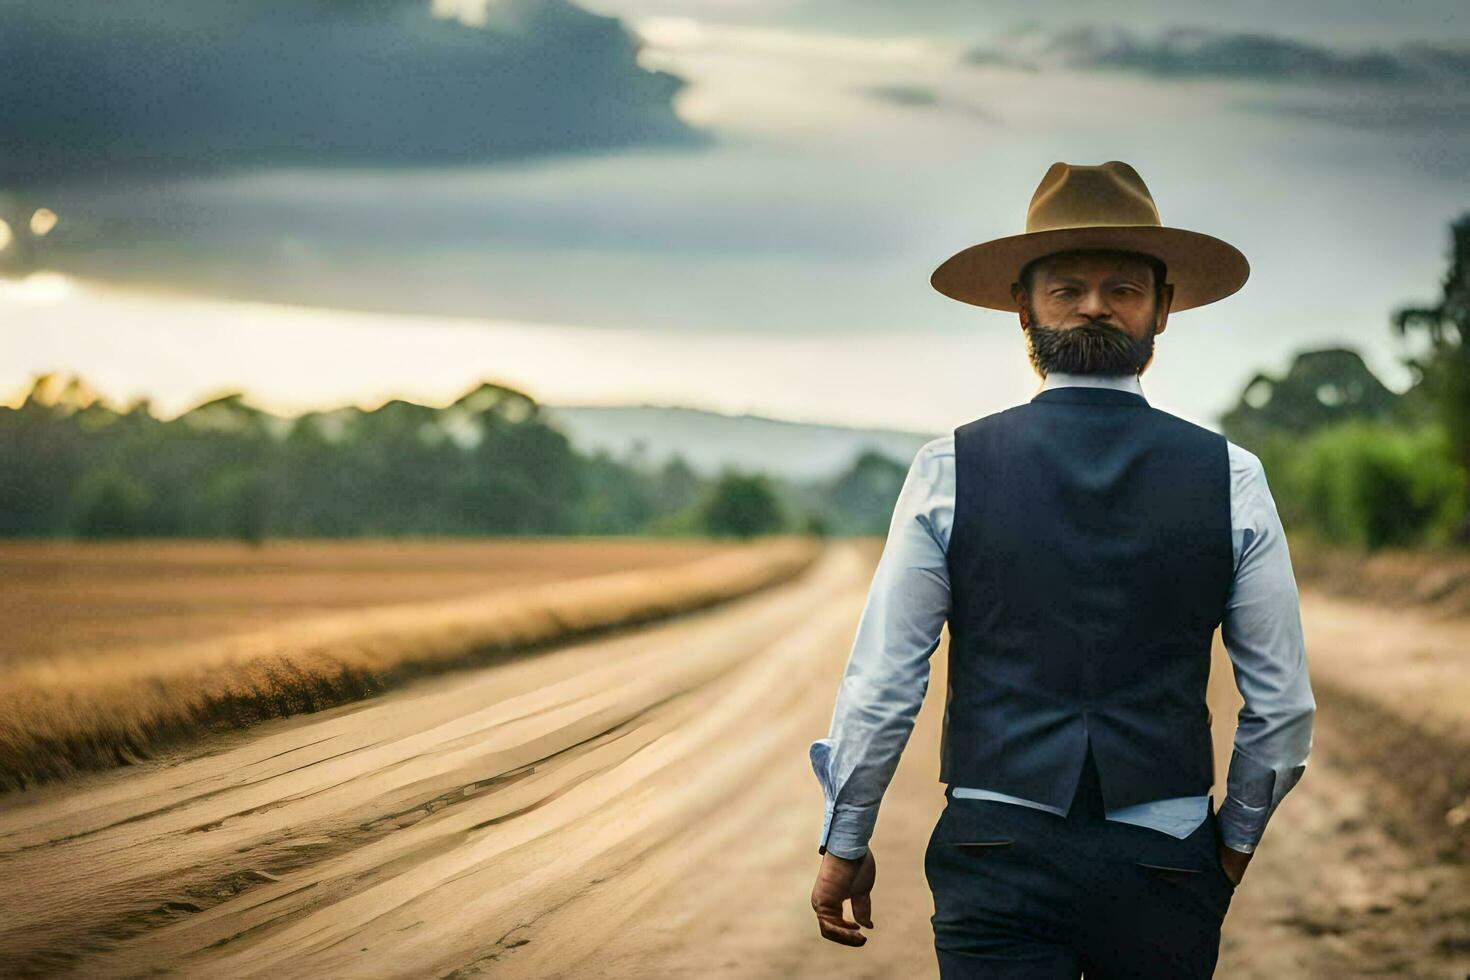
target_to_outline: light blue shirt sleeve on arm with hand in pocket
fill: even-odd
[[[1230,453],[1241,460],[1232,485],[1241,550],[1220,638],[1244,705],[1217,817],[1225,845],[1250,852],[1307,768],[1317,705],[1307,676],[1297,579],[1266,470],[1258,457],[1233,444]]]

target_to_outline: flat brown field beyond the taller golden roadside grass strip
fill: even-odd
[[[709,557],[707,539],[0,541],[0,664]]]

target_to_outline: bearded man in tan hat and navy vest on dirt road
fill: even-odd
[[[867,842],[948,620],[948,789],[925,855],[941,976],[1214,973],[1316,702],[1260,460],[1151,406],[1139,375],[1170,311],[1248,273],[1232,245],[1163,226],[1116,160],[1053,165],[1025,234],[935,270],[939,292],[1019,313],[1042,385],[908,470],[831,733],[811,745],[826,939],[861,946],[873,927]],[[1216,627],[1245,702],[1217,811]]]

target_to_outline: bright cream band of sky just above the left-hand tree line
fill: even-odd
[[[38,375],[53,373],[84,379],[118,408],[147,398],[162,419],[229,392],[272,414],[297,416],[370,410],[394,398],[445,406],[490,382],[553,406],[679,406],[925,432],[945,425],[947,408],[956,417],[972,411],[966,378],[976,372],[969,364],[994,360],[972,350],[991,342],[982,332],[956,344],[958,356],[941,382],[947,406],[935,394],[932,366],[904,335],[841,345],[741,332],[672,338],[654,329],[153,294],[53,272],[0,281],[0,338],[12,351],[0,364],[4,404],[19,406]],[[1029,397],[1019,348],[1016,357],[980,388],[983,401]]]

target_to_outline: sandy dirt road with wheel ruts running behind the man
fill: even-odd
[[[875,558],[839,544],[797,583],[717,610],[0,798],[0,964],[935,976],[922,852],[942,804],[942,646],[873,842],[869,945],[820,940],[807,905],[822,801],[806,748]],[[1223,777],[1235,704],[1223,651],[1216,666]],[[1313,763],[1236,893],[1220,976],[1464,976],[1464,865],[1385,829],[1398,790],[1357,763],[1349,713],[1319,705]]]

